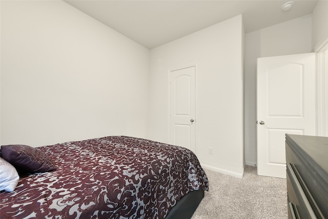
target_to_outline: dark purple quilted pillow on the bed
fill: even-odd
[[[2,145],[1,156],[20,173],[42,173],[56,169],[45,153],[27,145]]]

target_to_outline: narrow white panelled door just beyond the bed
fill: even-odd
[[[170,72],[171,144],[195,152],[195,75],[196,66]]]

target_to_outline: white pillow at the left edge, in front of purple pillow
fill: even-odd
[[[4,158],[0,157],[0,191],[12,192],[19,181],[16,169]]]

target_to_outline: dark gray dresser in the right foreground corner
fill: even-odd
[[[286,134],[288,218],[328,219],[328,137]]]

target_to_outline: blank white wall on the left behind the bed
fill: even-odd
[[[149,50],[62,1],[1,1],[1,144],[145,136]]]

